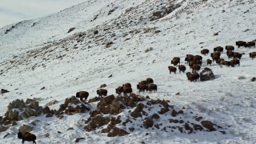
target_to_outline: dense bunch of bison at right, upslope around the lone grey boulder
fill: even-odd
[[[255,42],[244,42],[244,41],[238,41],[235,42],[236,46],[241,47],[255,47]],[[226,56],[230,59],[229,60],[225,60],[223,58],[221,58],[221,54],[223,54],[224,48],[222,46],[217,46],[214,48],[214,51],[212,53],[210,53],[210,57],[212,59],[207,59],[206,60],[206,64],[211,65],[214,61],[216,63],[218,63],[219,66],[240,66],[240,60],[242,58],[242,54],[238,53],[238,52],[234,52],[234,46],[225,46],[225,50],[226,50]],[[201,50],[201,54],[206,55],[209,54],[210,50],[208,49],[203,49]],[[256,57],[256,51],[251,52],[249,54],[250,58],[254,59]],[[188,64],[188,66],[190,66],[190,69],[192,70],[192,72],[187,72],[186,73],[186,77],[188,78],[188,80],[190,82],[193,81],[197,81],[198,78],[200,78],[200,75],[198,74],[197,71],[199,71],[201,69],[202,66],[202,56],[201,55],[193,55],[193,54],[186,54],[186,58],[185,58],[186,63]],[[174,66],[168,66],[168,69],[170,70],[170,74],[173,72],[174,74],[176,74],[177,68],[176,66],[178,66],[178,70],[179,72],[185,72],[186,70],[186,66],[181,65],[180,64],[180,58],[179,57],[174,57],[171,61],[171,64],[173,64]],[[209,68],[205,68],[205,70],[210,70]]]

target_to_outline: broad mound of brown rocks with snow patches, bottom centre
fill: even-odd
[[[84,129],[107,133],[109,137],[123,136],[142,129],[186,134],[222,129],[221,126],[192,114],[191,111],[170,106],[169,101],[165,100],[154,100],[136,94],[117,97],[109,95],[99,100],[96,110],[90,111],[90,118],[86,120]]]

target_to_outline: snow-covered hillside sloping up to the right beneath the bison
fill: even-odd
[[[37,143],[74,143],[76,138],[82,138],[80,143],[256,142],[256,83],[252,82],[256,60],[249,57],[256,48],[236,46],[237,41],[256,41],[255,7],[254,0],[88,0],[48,17],[3,27],[0,89],[10,92],[0,97],[2,118],[16,99],[34,98],[39,106],[55,101],[49,107],[58,110],[78,91],[88,91],[88,101],[106,84],[108,95],[117,96],[115,89],[130,82],[134,94],[164,99],[170,110],[185,111],[182,120],[194,122],[194,115],[201,116],[222,126],[225,134],[222,130],[165,131],[161,125],[161,130],[146,129],[140,127],[143,116],[132,120],[135,129],[129,134],[108,137],[101,129],[85,129],[90,119],[87,110],[62,118],[40,114],[14,126],[2,124],[9,128],[0,133],[0,142],[21,142],[17,133],[22,124],[34,124],[31,133],[37,135]],[[217,46],[234,46],[234,51],[242,54],[240,66],[216,62],[207,66],[206,59],[211,59]],[[202,55],[202,49],[210,53]],[[186,72],[192,71],[185,62],[186,54],[202,55],[200,71],[209,67],[215,79],[190,82],[186,73],[170,74],[168,66],[173,66],[174,57],[181,58]],[[232,59],[225,49],[221,58]],[[157,92],[138,93],[138,82],[146,78],[154,79]],[[97,110],[97,105],[91,102],[90,110]],[[149,106],[156,112],[158,108]],[[125,109],[118,116],[128,118],[129,110],[134,109]],[[169,122],[170,117],[168,112],[154,122]]]

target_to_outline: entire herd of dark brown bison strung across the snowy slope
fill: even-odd
[[[235,44],[236,46],[238,46],[238,48],[241,46],[248,47],[248,48],[255,47],[255,42],[238,41]],[[219,66],[223,66],[223,65],[232,66],[232,67],[236,65],[240,66],[240,60],[242,58],[242,54],[238,52],[234,52],[234,46],[225,46],[225,50],[226,50],[227,58],[229,59],[232,58],[230,61],[221,58],[221,54],[223,54],[224,48],[222,46],[217,46],[214,48],[214,51],[210,53],[210,57],[212,59],[206,60],[207,66],[211,65],[212,62],[214,61],[218,63]],[[210,50],[208,49],[201,50],[201,54],[203,55],[209,54],[209,52]],[[256,51],[251,52],[249,56],[250,58],[254,59],[256,57]],[[186,77],[190,82],[197,81],[198,78],[200,78],[198,71],[201,69],[201,66],[202,66],[202,56],[186,54],[185,61],[187,65],[190,66],[190,69],[192,70],[192,72],[186,72]],[[171,64],[173,64],[174,66],[168,66],[168,69],[170,70],[170,74],[171,73],[176,74],[177,66],[180,73],[181,72],[185,73],[186,66],[180,64],[180,58],[174,57],[171,60]],[[209,69],[209,68],[206,67],[205,70],[206,69]],[[158,90],[158,86],[154,84],[154,80],[152,78],[146,78],[146,80],[142,80],[141,82],[138,82],[137,89],[139,93],[145,92],[145,91],[152,92],[153,90],[155,92]],[[118,95],[120,94],[127,95],[133,92],[130,83],[125,83],[122,86],[118,86],[115,90],[116,90],[116,94]],[[98,97],[106,96],[107,90],[101,88],[97,90],[97,94],[98,94]],[[87,91],[79,91],[76,93],[76,97],[80,98],[81,101],[83,99],[86,101],[86,99],[89,97],[89,93]],[[35,143],[36,136],[30,133],[19,132],[18,138],[22,139],[22,143],[24,141],[30,141],[30,142],[32,141],[33,143]]]

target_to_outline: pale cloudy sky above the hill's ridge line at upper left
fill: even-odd
[[[53,14],[86,0],[0,0],[0,27]]]

